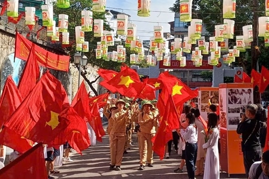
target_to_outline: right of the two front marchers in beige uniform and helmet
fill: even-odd
[[[138,170],[144,170],[146,161],[148,167],[153,167],[153,151],[152,137],[155,136],[155,127],[158,125],[158,120],[155,113],[151,112],[152,104],[149,101],[144,101],[142,105],[143,112],[138,115],[138,124],[140,125],[140,167]]]

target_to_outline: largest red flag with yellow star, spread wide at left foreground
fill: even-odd
[[[65,89],[46,72],[4,126],[32,141],[50,144],[69,124],[58,118],[66,107],[69,100]]]

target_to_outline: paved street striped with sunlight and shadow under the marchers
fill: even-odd
[[[105,136],[103,143],[97,143],[96,146],[89,147],[88,150],[83,151],[80,156],[76,152],[71,153],[73,162],[66,163],[58,170],[60,174],[54,174],[56,179],[188,179],[187,173],[176,174],[176,169],[180,163],[180,156],[172,151],[170,159],[160,161],[157,156],[154,157],[154,167],[145,167],[144,171],[138,171],[139,157],[137,152],[136,135],[133,136],[132,150],[125,154],[122,171],[110,171],[110,152],[109,152],[109,138]],[[186,168],[184,168],[186,171]],[[245,179],[244,175],[231,175],[230,179]],[[203,177],[197,177],[203,179]],[[228,175],[221,174],[221,179],[228,179]]]

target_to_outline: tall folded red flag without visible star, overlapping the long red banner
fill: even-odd
[[[29,92],[38,82],[40,76],[39,71],[40,70],[37,64],[36,55],[33,48],[31,48],[30,54],[18,83],[18,90],[23,99],[29,94]]]

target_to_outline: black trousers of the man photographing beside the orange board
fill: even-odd
[[[248,150],[243,150],[243,157],[244,157],[244,167],[245,167],[245,172],[247,178],[249,178],[249,172],[252,164],[254,162],[261,161],[263,151],[257,150],[257,151],[248,151]]]

